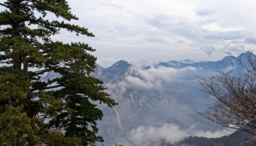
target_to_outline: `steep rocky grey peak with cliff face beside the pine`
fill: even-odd
[[[91,75],[103,80],[110,97],[118,102],[113,108],[99,105],[104,117],[98,122],[98,134],[103,136],[104,144],[117,143],[131,129],[164,121],[172,113],[165,97],[154,86],[147,86],[145,78],[124,60],[107,69],[97,65]]]

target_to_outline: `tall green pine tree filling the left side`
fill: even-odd
[[[67,23],[78,17],[66,0],[6,0],[0,3],[0,145],[87,146],[97,141],[102,111],[91,101],[116,105],[95,69],[95,49],[85,43],[51,41],[60,29],[94,36]],[[35,13],[39,17],[35,15]],[[49,21],[54,13],[63,21]],[[32,69],[33,68],[33,69]],[[36,71],[35,71],[36,69]],[[43,82],[45,73],[60,77]],[[47,121],[47,122],[46,122]],[[50,134],[45,130],[63,132]]]

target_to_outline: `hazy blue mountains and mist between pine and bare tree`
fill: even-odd
[[[98,105],[104,114],[98,121],[98,135],[103,136],[105,146],[147,146],[158,140],[171,146],[188,136],[221,137],[231,133],[201,124],[203,119],[194,110],[210,108],[214,100],[199,90],[196,76],[216,75],[216,71],[242,73],[243,68],[232,57],[216,62],[172,60],[137,68],[125,60],[108,68],[96,65],[91,75],[101,79],[108,88],[106,92],[118,102],[113,108]],[[45,76],[51,77],[57,75]]]

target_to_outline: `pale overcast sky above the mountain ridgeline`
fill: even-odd
[[[109,67],[118,60],[167,62],[191,59],[216,61],[256,44],[255,0],[67,0],[96,36],[76,37],[62,32],[63,42],[88,43],[98,63]]]

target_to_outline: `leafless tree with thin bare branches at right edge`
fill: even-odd
[[[230,52],[228,54],[232,55]],[[219,75],[208,78],[198,77],[200,89],[214,96],[216,102],[214,109],[195,112],[208,120],[206,124],[256,135],[256,56],[251,50],[232,57],[247,72],[236,76],[229,72],[219,72]]]

